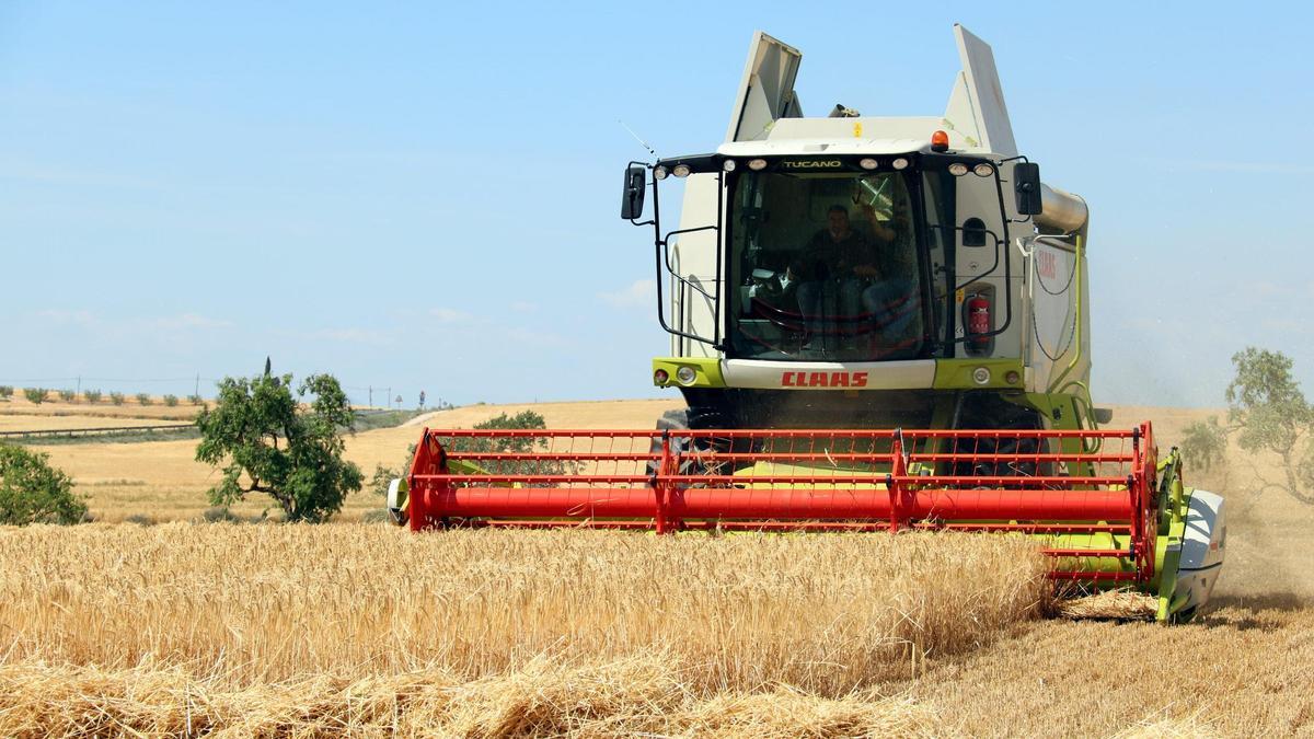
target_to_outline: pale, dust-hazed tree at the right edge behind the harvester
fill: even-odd
[[[1272,452],[1282,480],[1263,483],[1260,492],[1279,489],[1314,505],[1314,409],[1292,376],[1293,362],[1280,351],[1247,347],[1233,355],[1236,376],[1227,385],[1227,426],[1210,418],[1192,423],[1183,439],[1183,454],[1208,469],[1223,459],[1230,437],[1240,448]]]

